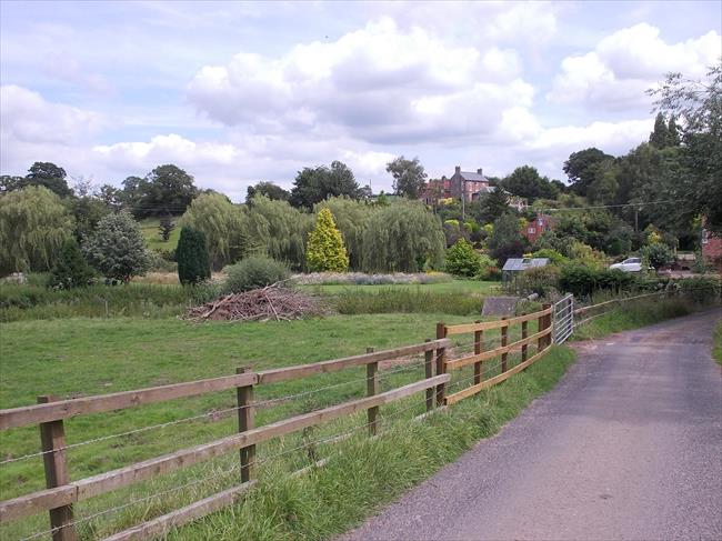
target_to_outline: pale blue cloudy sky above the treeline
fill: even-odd
[[[719,1],[2,0],[0,173],[174,163],[234,201],[333,160],[390,191],[400,154],[564,180],[573,151],[646,140],[645,90],[702,77],[721,34]]]

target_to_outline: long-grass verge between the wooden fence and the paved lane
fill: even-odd
[[[283,464],[261,472],[259,484],[233,509],[168,539],[328,539],[362,522],[382,505],[497,433],[533,399],[551,390],[573,362],[566,348],[477,398],[423,422],[398,421],[375,440],[338,445],[324,468],[289,478]]]

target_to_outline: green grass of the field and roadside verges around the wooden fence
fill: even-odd
[[[424,285],[312,285],[304,289],[331,303],[334,315],[291,322],[194,324],[177,315],[213,291],[131,283],[52,292],[38,284],[3,284],[0,408],[31,404],[40,394],[77,398],[118,392],[227,375],[243,365],[263,370],[358,354],[368,347],[381,350],[418,343],[434,338],[439,321],[479,319],[484,295],[497,285],[467,280]],[[98,299],[103,299],[103,307],[93,311],[90,307]],[[114,308],[106,310],[107,299]],[[600,317],[583,332],[601,335],[683,313],[669,302],[649,303],[654,308],[641,303],[633,313]],[[530,332],[534,330],[532,323]],[[513,328],[510,341],[518,339],[519,332]],[[499,345],[499,333],[485,332],[484,342],[484,349]],[[454,337],[449,354],[458,358],[472,349],[471,335]],[[418,355],[382,363],[381,390],[423,378],[422,361]],[[510,355],[510,367],[515,362],[519,354]],[[423,393],[384,405],[381,425],[385,434],[374,440],[364,435],[362,412],[260,444],[259,483],[243,503],[168,537],[291,540],[339,534],[458,458],[480,438],[495,433],[531,400],[553,388],[572,362],[570,349],[555,347],[504,384],[424,422],[409,422],[424,411]],[[454,372],[449,392],[468,387],[471,370]],[[495,373],[498,362],[489,362],[484,375]],[[273,403],[258,409],[257,424],[364,393],[362,367],[262,385],[255,390],[255,400]],[[234,405],[235,394],[228,391],[68,420],[71,477],[81,479],[232,434],[237,431]],[[350,439],[333,445],[327,441],[339,434]],[[0,462],[6,461],[0,465],[3,499],[44,488],[41,458],[23,459],[38,447],[37,427],[13,429],[0,438]],[[324,468],[311,469],[302,477],[288,475],[321,458],[330,458]],[[238,454],[229,453],[79,502],[74,505],[79,533],[83,540],[106,537],[230,488],[238,478]],[[97,513],[102,514],[86,520]],[[0,538],[24,538],[47,529],[47,515],[38,514],[3,525]]]

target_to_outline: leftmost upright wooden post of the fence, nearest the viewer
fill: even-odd
[[[38,397],[39,404],[54,402],[52,397]],[[66,429],[62,419],[40,423],[40,444],[42,461],[46,468],[46,484],[49,489],[70,482],[68,460],[66,458]],[[62,505],[50,510],[50,528],[52,541],[76,541],[78,534],[73,525],[72,505]]]

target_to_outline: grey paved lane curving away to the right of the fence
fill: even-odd
[[[578,344],[556,389],[342,539],[722,540],[719,318]]]

